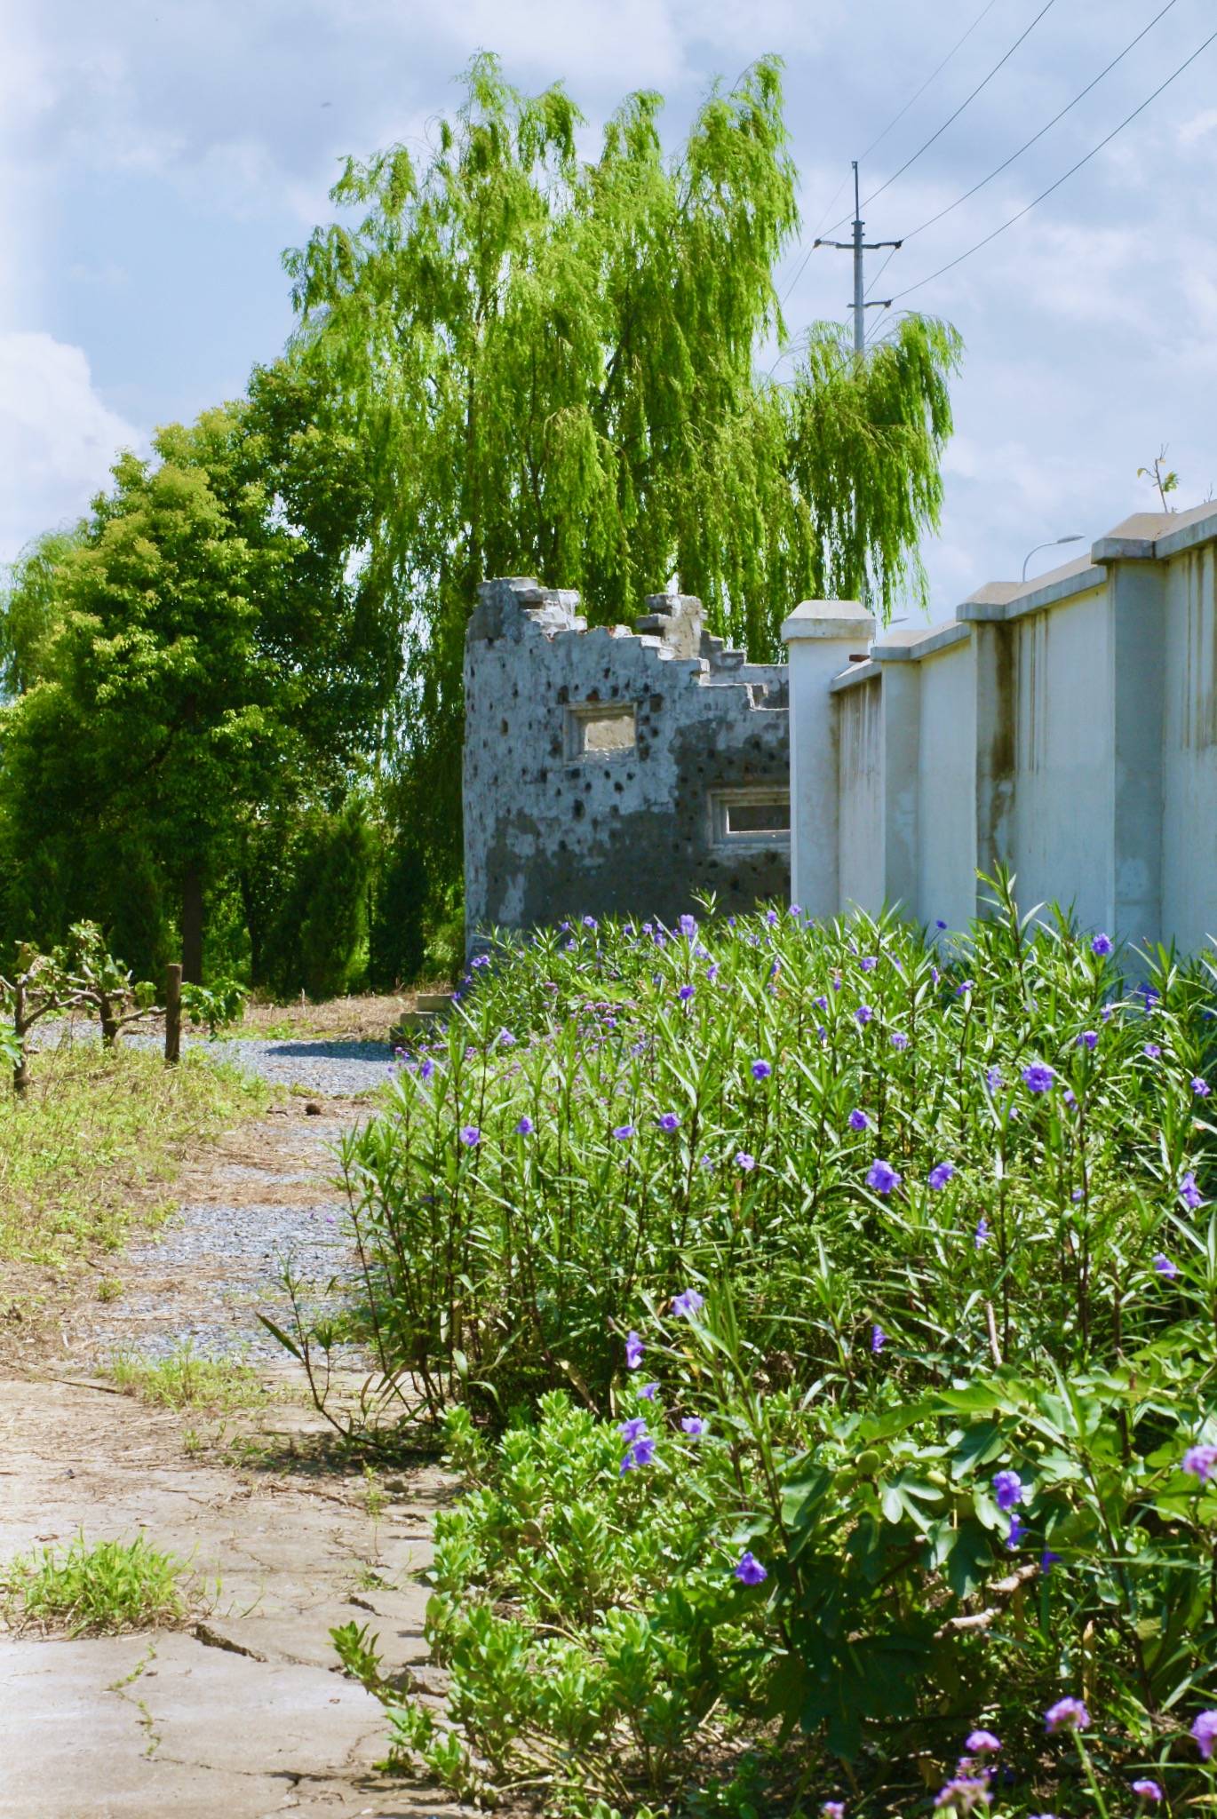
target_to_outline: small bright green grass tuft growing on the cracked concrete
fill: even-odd
[[[176,1623],[186,1615],[182,1561],[135,1541],[76,1535],[62,1552],[20,1553],[0,1577],[5,1617],[69,1635],[118,1635]]]

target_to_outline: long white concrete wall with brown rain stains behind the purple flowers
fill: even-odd
[[[1086,928],[1182,951],[1217,937],[1212,506],[1139,513],[870,657],[828,686],[791,664],[791,719],[835,753],[835,799],[793,779],[791,813],[837,822],[835,860],[795,855],[795,899],[961,928],[977,871],[1004,864],[1022,908],[1071,904]]]

